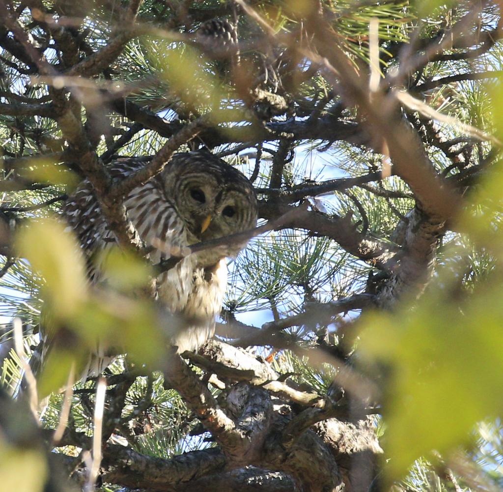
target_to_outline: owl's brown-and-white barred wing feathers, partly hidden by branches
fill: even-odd
[[[112,179],[122,180],[145,166],[150,157],[120,158],[107,167]],[[127,215],[147,246],[153,247],[149,259],[156,264],[170,258],[173,247],[187,245],[184,222],[175,207],[164,196],[160,181],[155,178],[134,188],[124,200]],[[62,219],[68,231],[73,231],[87,263],[88,278],[92,284],[107,281],[103,271],[107,252],[117,245],[115,233],[101,211],[88,180],[83,181],[71,195],[62,209]],[[172,312],[182,311],[191,292],[194,260],[185,258],[176,268],[161,274],[156,279],[158,297]],[[47,313],[46,316],[47,317]],[[50,323],[42,322],[43,348],[40,359],[46,359],[44,351],[50,350],[55,333],[51,333]],[[43,326],[43,325],[47,326]],[[97,340],[96,350],[91,354],[88,367],[83,375],[97,375],[113,359],[115,349],[103,346]]]

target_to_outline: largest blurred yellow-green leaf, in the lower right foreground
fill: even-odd
[[[500,289],[480,289],[463,311],[435,290],[414,310],[365,318],[361,350],[390,370],[384,448],[390,478],[436,449],[466,442],[503,400]],[[488,308],[490,306],[490,308]]]

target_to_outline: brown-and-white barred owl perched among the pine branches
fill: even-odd
[[[108,169],[119,180],[150,159],[120,158]],[[207,151],[176,154],[159,175],[134,188],[124,204],[140,237],[153,248],[150,261],[154,264],[168,259],[178,248],[240,232],[257,222],[257,198],[251,183]],[[63,215],[86,255],[91,282],[106,281],[100,262],[116,238],[88,181],[68,199]],[[227,284],[225,257],[236,256],[244,245],[190,255],[156,278],[159,302],[190,320],[173,337],[179,352],[197,350],[213,336]]]

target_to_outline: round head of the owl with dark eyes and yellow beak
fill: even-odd
[[[162,174],[166,199],[187,226],[190,243],[227,236],[257,224],[257,196],[253,186],[237,169],[210,152],[178,153]],[[210,250],[201,259],[213,264],[235,257],[244,247],[230,245],[220,253]],[[210,258],[210,257],[218,258]],[[213,261],[215,260],[215,261]]]

